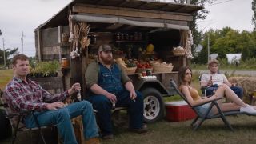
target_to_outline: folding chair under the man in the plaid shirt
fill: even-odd
[[[11,143],[14,144],[16,138],[17,138],[17,133],[18,131],[27,131],[27,130],[38,130],[38,137],[37,137],[37,141],[39,140],[39,137],[41,136],[42,138],[42,142],[44,144],[46,144],[46,140],[42,134],[42,127],[38,125],[38,120],[36,118],[36,116],[34,115],[34,111],[21,111],[21,112],[18,112],[18,113],[13,113],[13,111],[10,109],[10,106],[8,106],[7,102],[6,102],[6,99],[4,98],[4,94],[3,92],[1,91],[0,92],[0,101],[1,101],[1,106],[4,107],[4,110],[6,111],[6,118],[8,118],[10,120],[10,124],[13,128],[13,133],[12,133],[12,140],[11,140]],[[22,120],[23,118],[25,118],[25,116],[27,114],[33,114],[34,116],[34,121],[36,122],[37,124],[37,127],[33,128],[33,129],[29,129],[29,128],[26,128],[25,124],[22,123]],[[46,127],[46,126],[43,126],[43,127]]]

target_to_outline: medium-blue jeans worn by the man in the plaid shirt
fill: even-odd
[[[46,110],[34,112],[38,119],[39,126],[57,125],[58,133],[61,135],[64,144],[76,144],[74,129],[70,118],[82,115],[83,134],[85,138],[98,137],[98,127],[94,117],[94,111],[87,101],[72,103],[59,110]],[[26,116],[26,127],[36,127],[33,115]]]

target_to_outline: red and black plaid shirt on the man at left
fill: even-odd
[[[24,82],[14,77],[6,86],[5,97],[14,112],[20,110],[46,110],[46,103],[61,102],[69,94],[67,90],[61,94],[50,94],[37,82],[30,79]]]

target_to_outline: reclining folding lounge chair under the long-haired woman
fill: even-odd
[[[222,110],[220,109],[220,107],[218,106],[218,100],[222,99],[222,98],[218,98],[215,99],[213,101],[210,102],[206,102],[206,103],[210,103],[210,107],[209,109],[206,111],[206,114],[201,114],[198,112],[198,110],[196,109],[196,107],[198,106],[202,106],[206,103],[202,103],[200,105],[197,106],[191,106],[190,103],[187,101],[186,97],[178,90],[178,87],[176,85],[176,83],[174,82],[173,79],[170,79],[170,86],[172,86],[174,88],[174,90],[177,92],[177,94],[179,94],[182,99],[184,99],[184,101],[187,102],[187,104],[194,110],[194,112],[198,115],[194,121],[191,123],[191,126],[193,126],[194,130],[198,130],[198,128],[202,125],[202,122],[204,122],[206,119],[213,119],[213,118],[222,118],[222,121],[225,123],[225,125],[232,131],[234,131],[233,127],[230,125],[230,123],[226,120],[225,116],[229,116],[229,115],[236,115],[236,114],[247,114],[245,112],[240,112],[239,110],[234,110],[234,111],[228,111],[228,112],[222,112]],[[218,114],[215,115],[209,115],[210,110],[213,108],[213,106],[216,106],[218,109]],[[247,114],[247,115],[253,115],[253,114]]]

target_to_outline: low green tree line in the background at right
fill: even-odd
[[[219,59],[226,59],[226,54],[235,53],[242,53],[242,61],[256,58],[256,31],[239,31],[225,27],[222,30],[210,29],[202,34],[203,48],[193,62],[200,64],[207,62],[208,37],[210,54],[217,53]]]

